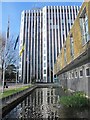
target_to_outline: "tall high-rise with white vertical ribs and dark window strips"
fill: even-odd
[[[45,6],[21,13],[19,75],[24,83],[31,78],[53,82],[54,63],[77,17],[79,6]]]

